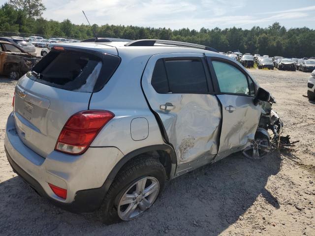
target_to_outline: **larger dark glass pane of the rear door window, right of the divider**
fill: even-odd
[[[201,59],[165,60],[170,91],[207,92],[207,79]]]

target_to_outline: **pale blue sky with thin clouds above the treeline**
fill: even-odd
[[[315,0],[42,0],[43,17],[75,24],[221,29],[315,28]],[[3,4],[6,0],[0,0]]]

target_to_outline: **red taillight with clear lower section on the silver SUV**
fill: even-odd
[[[115,115],[109,111],[82,111],[65,123],[55,150],[69,154],[81,154],[89,148],[101,128]]]

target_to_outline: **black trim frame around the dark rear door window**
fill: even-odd
[[[158,92],[153,86],[153,89],[159,93],[159,94],[215,94],[215,89],[214,89],[214,86],[213,86],[213,82],[212,82],[212,78],[211,78],[211,73],[209,71],[209,66],[207,64],[207,61],[205,59],[205,57],[167,57],[167,58],[159,58],[159,59],[162,59],[163,60],[163,65],[164,65],[164,70],[165,70],[165,73],[166,73],[166,80],[167,80],[167,85],[168,85],[168,89],[170,90],[169,88],[169,81],[168,81],[168,72],[167,72],[167,69],[166,69],[166,65],[165,65],[165,61],[166,60],[191,60],[191,59],[197,59],[199,61],[201,61],[202,63],[202,66],[203,66],[203,71],[204,71],[204,74],[206,76],[206,83],[207,83],[207,90],[208,91],[205,91],[205,92],[200,92],[200,91],[176,91],[176,92],[173,92],[173,91],[170,91],[168,93],[161,93],[161,92]],[[155,66],[156,66],[156,63],[157,61],[159,60],[157,59],[155,61]],[[153,70],[155,69],[155,66],[153,68]],[[151,81],[152,81],[152,78],[151,78]]]

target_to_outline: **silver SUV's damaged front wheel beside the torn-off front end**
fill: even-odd
[[[251,145],[243,150],[243,155],[251,159],[261,159],[271,151],[270,137],[257,132]]]

